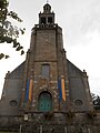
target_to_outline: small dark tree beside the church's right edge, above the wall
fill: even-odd
[[[100,110],[100,96],[96,94],[91,94],[91,95],[92,95],[92,102],[93,102],[94,109]]]

